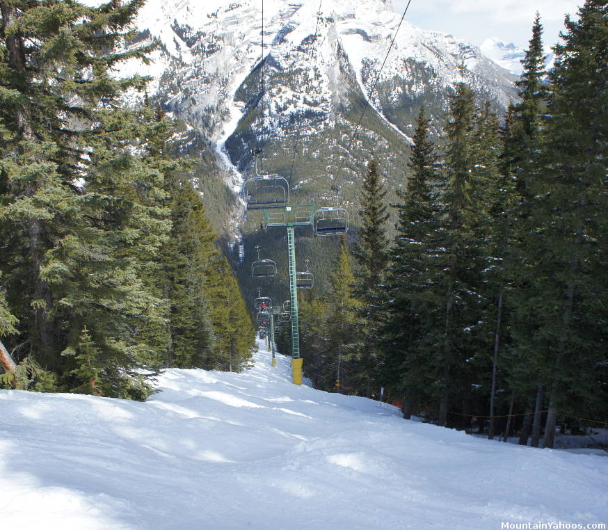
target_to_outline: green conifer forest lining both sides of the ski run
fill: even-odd
[[[144,401],[164,369],[250,367],[260,295],[218,229],[220,177],[149,78],[115,75],[158,46],[143,4],[0,0],[3,389]],[[554,447],[608,421],[608,6],[566,17],[551,65],[530,22],[506,112],[463,75],[445,109],[417,104],[401,174],[357,161],[348,231],[306,256],[297,356],[319,390]]]

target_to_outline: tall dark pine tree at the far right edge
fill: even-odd
[[[600,403],[602,384],[590,374],[606,362],[598,321],[605,321],[607,307],[600,278],[607,263],[608,6],[587,0],[578,15],[566,18],[563,44],[554,47],[546,138],[534,179],[536,234],[528,246],[535,282],[527,291],[538,330],[527,346],[536,348],[546,380],[545,447],[553,446],[568,394]]]

